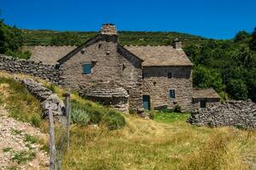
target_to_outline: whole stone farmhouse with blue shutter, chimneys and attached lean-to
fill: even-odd
[[[169,46],[122,46],[116,26],[79,47],[28,47],[31,59],[62,68],[66,88],[121,111],[174,108],[182,111],[219,102],[213,89],[192,88],[193,64],[175,41]]]

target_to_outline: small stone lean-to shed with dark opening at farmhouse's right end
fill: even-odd
[[[220,96],[213,88],[194,88],[192,93],[193,108],[206,108],[208,103],[219,103]]]

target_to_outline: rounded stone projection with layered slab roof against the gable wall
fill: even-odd
[[[128,113],[129,95],[124,88],[94,88],[85,97]]]

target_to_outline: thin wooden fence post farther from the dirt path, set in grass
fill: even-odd
[[[71,123],[71,94],[65,93],[65,117],[66,117],[66,147],[70,147],[70,123]]]

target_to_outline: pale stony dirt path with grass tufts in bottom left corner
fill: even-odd
[[[18,122],[0,106],[0,170],[48,169],[48,156],[39,139],[47,135],[29,123]]]

